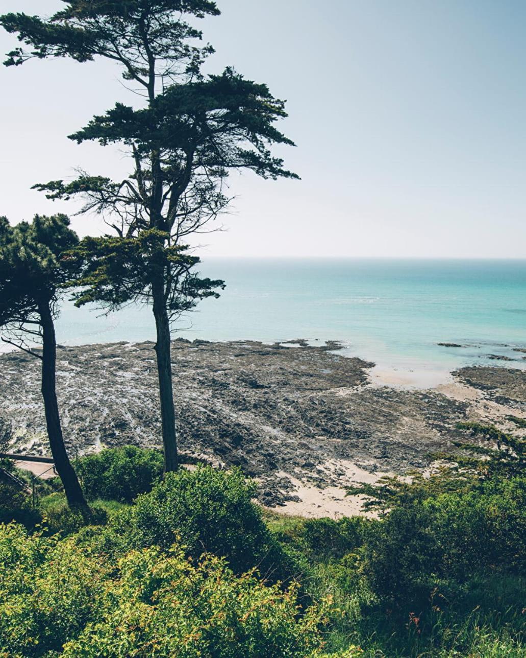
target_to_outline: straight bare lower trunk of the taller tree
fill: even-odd
[[[172,356],[170,355],[170,320],[164,299],[164,282],[152,282],[153,315],[157,342],[157,372],[159,378],[160,418],[162,422],[162,443],[164,446],[164,472],[178,469],[179,460],[176,438],[176,412],[172,388]]]

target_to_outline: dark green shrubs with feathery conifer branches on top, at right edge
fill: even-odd
[[[526,442],[465,423],[496,447],[460,444],[471,454],[412,482],[385,478],[358,488],[385,518],[361,551],[361,570],[379,597],[408,605],[452,595],[483,572],[526,572]],[[356,490],[356,489],[355,489]]]

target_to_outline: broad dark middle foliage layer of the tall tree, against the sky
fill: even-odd
[[[294,145],[274,126],[277,119],[286,116],[284,101],[275,99],[268,86],[245,80],[233,68],[226,68],[206,80],[164,89],[150,99],[145,109],[116,103],[70,139],[78,143],[96,140],[103,146],[114,142],[133,145],[133,153],[141,160],[158,149],[163,155],[165,175],[172,159],[190,147],[193,168],[206,168],[213,176],[227,176],[229,168],[247,168],[263,178],[297,178],[268,151],[273,143]],[[83,180],[87,184],[84,190],[73,182],[64,193],[100,192],[101,184],[110,191],[107,179]],[[60,188],[53,190],[57,191]],[[114,196],[123,192],[112,191]]]

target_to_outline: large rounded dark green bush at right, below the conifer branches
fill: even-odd
[[[362,572],[379,597],[410,603],[462,590],[484,570],[526,569],[526,480],[490,480],[395,507],[373,524]]]

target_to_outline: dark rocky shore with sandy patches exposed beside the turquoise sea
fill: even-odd
[[[430,453],[464,436],[455,429],[460,420],[512,429],[507,414],[526,417],[526,372],[514,368],[462,368],[448,386],[406,391],[372,384],[373,363],[343,357],[336,342],[176,340],[172,357],[187,461],[237,465],[258,479],[264,504],[291,511],[302,486],[322,493],[429,467]],[[0,416],[16,428],[16,448],[46,453],[39,361],[3,354],[0,373]],[[60,347],[57,388],[70,453],[160,445],[155,377],[151,342]]]

